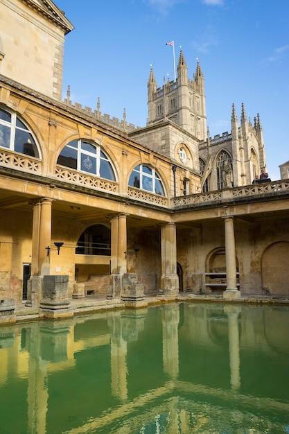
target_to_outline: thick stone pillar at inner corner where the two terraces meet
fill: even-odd
[[[161,227],[161,291],[164,295],[179,293],[177,276],[177,236],[175,223]]]

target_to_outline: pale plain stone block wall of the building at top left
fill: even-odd
[[[37,92],[61,99],[64,31],[25,7],[1,1],[1,73]],[[19,5],[21,7],[19,7]],[[24,8],[24,10],[23,10]],[[11,32],[14,37],[10,37]]]

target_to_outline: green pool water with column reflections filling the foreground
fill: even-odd
[[[288,328],[193,303],[1,327],[1,434],[288,433]]]

